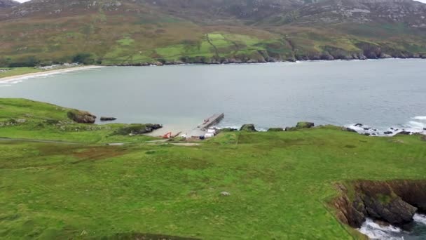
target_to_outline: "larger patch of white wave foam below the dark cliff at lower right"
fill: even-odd
[[[381,226],[378,225],[376,222],[373,222],[373,220],[369,218],[366,219],[366,221],[362,224],[361,228],[359,228],[358,231],[368,236],[369,239],[404,240],[403,237],[393,236],[394,234],[398,234],[402,231],[399,227],[394,227],[392,225]]]

